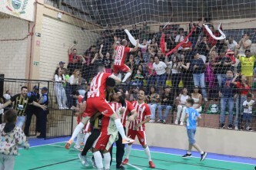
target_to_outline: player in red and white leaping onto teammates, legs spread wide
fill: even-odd
[[[115,120],[115,125],[120,132],[121,137],[123,139],[123,143],[130,143],[134,142],[133,139],[128,139],[125,136],[125,130],[121,124],[121,119],[118,117],[118,114],[115,113],[115,110],[111,108],[111,106],[105,100],[105,90],[107,88],[106,81],[108,78],[112,78],[115,81],[121,81],[118,77],[113,74],[105,73],[105,66],[104,64],[98,64],[98,74],[91,80],[91,87],[88,91],[87,101],[86,101],[86,109],[85,113],[83,113],[81,123],[75,127],[75,130],[71,136],[71,139],[66,143],[65,149],[69,149],[71,143],[81,131],[81,129],[88,123],[88,120],[93,116],[95,113],[100,112],[104,116],[110,117],[111,119]],[[114,83],[115,83],[114,81]],[[115,85],[114,85],[115,86]]]

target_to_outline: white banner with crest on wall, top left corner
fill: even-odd
[[[0,0],[0,11],[28,21],[34,21],[35,0]]]

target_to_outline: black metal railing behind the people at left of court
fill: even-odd
[[[33,87],[37,86],[39,88],[38,93],[40,94],[40,96],[42,87],[47,87],[49,103],[46,126],[46,139],[61,136],[71,136],[74,113],[72,110],[59,109],[55,96],[55,82],[45,80],[9,79],[1,77],[0,84],[0,94],[2,94],[0,97],[4,100],[7,93],[9,93],[10,96],[15,96],[15,94],[21,93],[21,88],[23,86],[28,87],[28,92],[31,92],[33,90]],[[29,136],[37,136],[39,135],[37,123],[38,121],[40,121],[40,119],[36,118],[36,115],[38,113],[37,108],[33,110],[32,113],[33,116],[29,127]]]

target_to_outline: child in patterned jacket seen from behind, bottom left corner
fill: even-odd
[[[7,110],[4,116],[5,123],[0,125],[0,169],[14,169],[18,145],[25,149],[29,148],[24,132],[15,126],[17,114],[13,109]]]

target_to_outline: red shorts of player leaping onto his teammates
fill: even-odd
[[[115,113],[115,110],[113,110],[108,102],[101,97],[88,98],[86,100],[86,109],[83,113],[83,117],[91,117],[97,112],[100,112],[102,115],[109,117]]]

